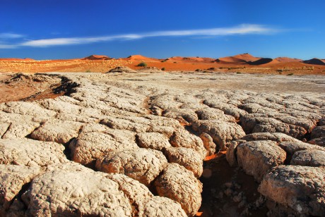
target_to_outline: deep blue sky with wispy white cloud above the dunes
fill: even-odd
[[[0,0],[0,58],[325,58],[325,1]]]

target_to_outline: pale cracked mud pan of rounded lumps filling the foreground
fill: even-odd
[[[324,77],[15,76],[0,216],[324,216]]]

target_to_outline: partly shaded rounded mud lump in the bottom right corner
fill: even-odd
[[[278,204],[289,206],[296,216],[324,216],[325,168],[275,167],[262,180],[259,192]]]

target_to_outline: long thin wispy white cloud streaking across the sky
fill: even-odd
[[[126,35],[107,35],[100,37],[62,37],[52,39],[34,39],[18,44],[0,44],[2,48],[16,48],[19,46],[59,46],[71,44],[90,44],[95,42],[109,42],[113,40],[129,40],[129,39],[143,39],[148,37],[215,37],[225,35],[249,35],[249,34],[271,34],[279,30],[264,25],[244,24],[236,27],[220,27],[201,30],[172,30],[172,31],[158,31],[158,32],[145,32],[140,34],[126,34]],[[8,33],[3,33],[8,34]],[[10,35],[10,34],[9,34]],[[19,35],[16,35],[18,37]],[[8,37],[8,35],[7,35]],[[12,34],[11,37],[15,37]],[[6,47],[8,46],[8,47]]]

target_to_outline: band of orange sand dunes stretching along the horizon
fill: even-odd
[[[139,70],[138,63],[145,62],[148,67],[164,68],[166,71],[219,71],[224,73],[264,73],[275,75],[325,75],[325,66],[301,62],[278,62],[252,66],[247,63],[215,62],[213,58],[168,58],[157,59],[135,55],[119,59],[67,59],[67,60],[4,60],[0,59],[0,73],[46,73],[46,72],[93,72],[106,73],[117,66],[128,66]]]

